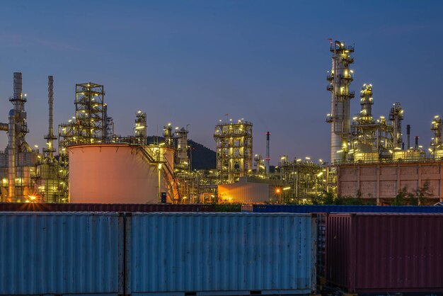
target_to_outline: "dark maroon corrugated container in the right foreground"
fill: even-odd
[[[349,292],[443,292],[443,215],[330,214],[326,280]]]

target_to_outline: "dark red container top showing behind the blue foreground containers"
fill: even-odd
[[[137,203],[0,203],[0,212],[214,212],[214,205]]]

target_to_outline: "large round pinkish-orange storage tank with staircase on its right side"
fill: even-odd
[[[159,203],[159,175],[161,192],[168,193],[170,202],[164,177],[165,164],[159,168],[159,163],[148,161],[143,149],[130,144],[68,147],[69,202]],[[172,165],[173,149],[157,147],[150,151],[157,156],[160,152],[160,159],[168,159]]]

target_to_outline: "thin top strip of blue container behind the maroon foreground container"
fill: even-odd
[[[434,205],[253,205],[253,212],[441,212]]]

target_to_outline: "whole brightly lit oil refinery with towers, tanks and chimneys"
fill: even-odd
[[[26,142],[27,95],[22,74],[13,73],[12,108],[8,121],[0,123],[8,134],[0,152],[1,201],[283,204],[312,203],[330,194],[389,204],[403,188],[410,193],[426,188],[429,203],[442,201],[442,118],[432,118],[429,149],[418,137],[411,144],[410,125],[403,136],[400,102],[392,102],[386,117],[374,117],[376,88],[369,83],[362,85],[360,110],[352,116],[355,47],[331,41],[329,50],[330,161],[281,155],[274,166],[271,132],[255,139],[266,155],[254,154],[253,123],[244,118],[215,124],[216,161],[205,170],[192,169],[188,126],[166,123],[163,137],[149,137],[146,113],[137,110],[133,135],[116,135],[105,87],[92,82],[76,84],[74,116],[55,135],[53,76],[47,77],[48,131],[40,152]]]

